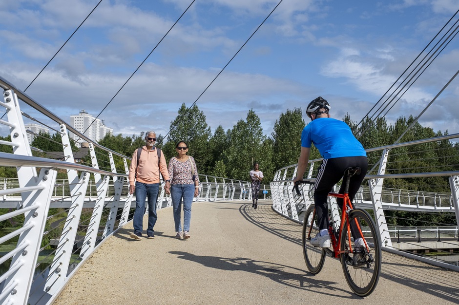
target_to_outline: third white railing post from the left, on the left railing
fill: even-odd
[[[91,154],[92,167],[99,169],[99,165],[97,164],[96,152],[94,151],[94,146],[92,145],[92,143],[89,143],[89,152]],[[96,246],[97,234],[99,232],[99,225],[101,223],[102,212],[104,211],[105,197],[108,189],[108,176],[105,176],[104,179],[102,179],[102,175],[100,173],[95,173],[94,178],[96,181],[97,198],[86,231],[86,236],[84,237],[83,246],[81,248],[81,258],[88,257],[94,250],[94,247]]]

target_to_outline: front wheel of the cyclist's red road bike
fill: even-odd
[[[317,214],[314,205],[311,205],[306,211],[303,221],[303,255],[308,270],[313,274],[319,273],[325,262],[325,250],[313,247],[310,242],[311,238],[318,232]]]

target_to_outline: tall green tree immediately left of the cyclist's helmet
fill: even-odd
[[[301,132],[305,122],[301,108],[287,109],[275,121],[273,132],[274,170],[295,164],[301,151]]]

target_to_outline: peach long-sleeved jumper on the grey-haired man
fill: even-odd
[[[139,166],[137,166],[137,150],[139,150],[139,148],[132,154],[131,166],[129,167],[129,185],[134,185],[136,168],[136,181],[146,184],[159,183],[158,153],[156,152],[156,148],[152,147],[152,149],[148,151],[146,146],[142,146]],[[167,164],[164,153],[161,153],[159,166],[164,180],[169,180],[169,172],[167,172]]]

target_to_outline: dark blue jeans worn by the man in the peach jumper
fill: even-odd
[[[153,233],[158,216],[156,215],[156,203],[158,201],[159,183],[146,184],[136,181],[135,183],[135,211],[133,218],[134,232],[142,233],[145,214],[145,200],[148,196],[148,228],[146,233]]]

